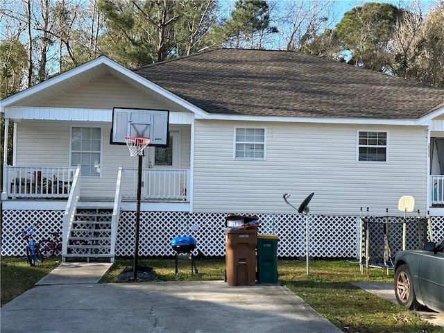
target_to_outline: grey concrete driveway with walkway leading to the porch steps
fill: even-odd
[[[1,332],[341,332],[280,285],[97,284],[102,265],[60,265],[1,308]]]

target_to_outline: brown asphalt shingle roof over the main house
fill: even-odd
[[[215,49],[134,71],[217,114],[418,119],[444,102],[444,89],[293,51]]]

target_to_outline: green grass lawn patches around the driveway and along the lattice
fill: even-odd
[[[31,267],[23,259],[1,260],[1,304],[40,280],[58,265],[60,258]],[[174,259],[144,258],[153,267],[156,281],[223,280],[224,259],[196,259],[198,274],[191,274],[189,259],[179,260],[175,274]],[[117,275],[131,259],[116,259],[101,283],[118,282]],[[444,327],[422,321],[415,311],[408,311],[371,293],[355,287],[351,282],[393,282],[393,272],[371,268],[369,275],[361,275],[359,264],[338,260],[312,260],[307,276],[305,261],[278,260],[279,280],[305,300],[321,315],[343,332],[353,333],[444,333]],[[139,282],[144,283],[144,282]],[[152,283],[152,282],[147,282]]]

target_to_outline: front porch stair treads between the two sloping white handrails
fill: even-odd
[[[109,207],[79,208],[74,214],[74,222],[68,230],[67,258],[110,258],[111,219]]]

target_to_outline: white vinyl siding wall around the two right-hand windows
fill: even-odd
[[[237,123],[264,128],[264,123]],[[266,160],[232,158],[232,122],[196,121],[194,210],[294,214],[282,194],[299,205],[311,192],[314,214],[398,214],[403,195],[426,209],[427,136],[415,126],[368,126],[390,133],[390,160],[356,159],[354,125],[267,123]],[[360,130],[360,129],[359,129]],[[278,222],[277,222],[278,223]]]

